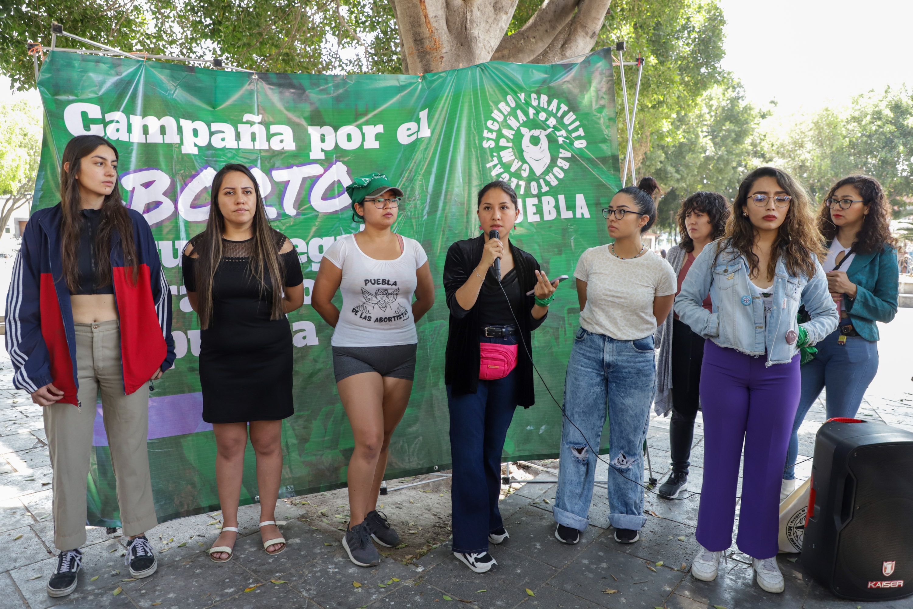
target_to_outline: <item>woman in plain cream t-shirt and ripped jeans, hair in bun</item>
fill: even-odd
[[[672,310],[676,274],[641,241],[656,219],[653,178],[618,191],[603,215],[614,243],[583,252],[574,277],[581,328],[564,383],[561,471],[555,537],[580,541],[590,520],[593,474],[609,414],[609,523],[619,543],[634,543],[644,526],[641,447],[656,384],[653,333]]]

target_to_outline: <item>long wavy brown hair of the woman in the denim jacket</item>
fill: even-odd
[[[732,215],[726,225],[726,236],[717,251],[725,247],[733,247],[748,260],[751,274],[758,272],[758,257],[755,256],[754,236],[755,228],[745,213],[751,187],[762,177],[771,177],[780,184],[780,187],[792,197],[789,211],[777,231],[777,238],[773,242],[771,258],[768,263],[768,272],[771,277],[776,273],[777,260],[782,257],[786,270],[793,277],[803,276],[812,278],[815,272],[815,257],[824,255],[824,238],[818,232],[812,210],[812,197],[789,173],[776,167],[759,167],[745,176],[739,184],[739,193],[732,202]]]

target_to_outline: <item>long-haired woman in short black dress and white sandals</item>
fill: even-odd
[[[285,314],[304,303],[298,254],[269,226],[257,181],[244,165],[215,174],[203,233],[184,249],[184,286],[200,319],[203,420],[215,433],[215,481],[226,525],[209,550],[231,560],[249,423],[257,455],[260,536],[285,550],[274,510],[282,474],[279,437],[292,406],[292,342]],[[230,545],[229,545],[230,544]]]

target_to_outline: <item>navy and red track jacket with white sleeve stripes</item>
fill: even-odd
[[[127,210],[140,276],[125,267],[121,238],[111,236],[111,281],[121,326],[124,394],[132,394],[159,370],[171,368],[171,291],[152,231],[139,212]],[[60,402],[77,399],[76,334],[69,289],[60,255],[60,204],[32,214],[22,236],[6,296],[6,351],[16,374],[13,384],[29,393],[54,383]]]

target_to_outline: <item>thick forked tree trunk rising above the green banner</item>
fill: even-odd
[[[390,0],[404,74],[466,68],[495,59],[554,63],[593,48],[611,0],[544,0],[505,36],[518,0]]]

